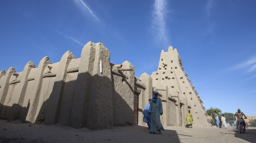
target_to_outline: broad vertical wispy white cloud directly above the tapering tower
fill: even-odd
[[[165,16],[168,12],[166,0],[155,0],[151,29],[157,42],[167,43]]]

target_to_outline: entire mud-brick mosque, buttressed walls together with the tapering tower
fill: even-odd
[[[19,73],[13,67],[2,70],[0,118],[92,130],[147,126],[142,112],[153,92],[159,92],[163,125],[185,125],[190,109],[194,124],[208,126],[203,102],[181,65],[177,50],[170,47],[161,52],[158,71],[138,78],[130,62],[122,67],[110,63],[108,49],[90,41],[80,58],[67,51],[57,63],[46,56],[38,67],[30,61]]]

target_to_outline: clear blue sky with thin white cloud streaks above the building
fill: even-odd
[[[79,58],[101,42],[111,63],[128,60],[135,75],[157,71],[161,50],[177,48],[205,108],[256,116],[254,0],[2,0],[0,70],[16,72],[66,51]]]

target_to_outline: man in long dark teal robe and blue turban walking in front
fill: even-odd
[[[162,102],[161,99],[158,98],[158,92],[155,92],[153,94],[153,98],[151,100],[150,106],[149,106],[149,110],[148,113],[150,114],[150,134],[155,134],[156,132],[159,132],[159,134],[161,134],[161,130],[164,131],[164,128],[161,124],[160,121],[160,115],[162,116],[163,114],[163,106],[162,106]]]

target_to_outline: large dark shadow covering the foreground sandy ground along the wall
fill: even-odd
[[[6,130],[4,130],[6,129]],[[24,132],[26,131],[26,132]],[[177,132],[165,130],[161,134],[150,134],[147,127],[139,125],[116,126],[113,129],[75,129],[59,124],[44,125],[21,123],[19,120],[0,119],[2,142],[172,142],[180,143]]]

